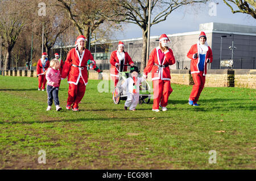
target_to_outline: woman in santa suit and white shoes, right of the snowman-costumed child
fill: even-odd
[[[152,82],[154,91],[154,104],[152,111],[159,112],[159,106],[162,111],[167,111],[168,98],[172,92],[171,87],[171,74],[169,65],[175,64],[174,54],[168,48],[169,38],[166,34],[160,36],[159,47],[156,47],[148,59],[146,68],[144,69],[143,76],[152,70]]]

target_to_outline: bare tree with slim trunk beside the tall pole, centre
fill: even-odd
[[[151,0],[151,21],[150,27],[166,20],[171,12],[181,6],[193,3],[206,3],[208,0]],[[113,9],[114,16],[122,19],[114,20],[115,22],[127,22],[137,24],[142,29],[143,47],[142,47],[142,66],[146,67],[147,52],[147,33],[148,33],[148,16],[149,0],[110,0],[118,9]],[[113,19],[111,19],[113,20]]]

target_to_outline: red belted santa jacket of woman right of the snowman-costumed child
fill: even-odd
[[[152,81],[154,80],[171,80],[170,68],[169,65],[175,64],[174,54],[172,50],[165,51],[164,60],[160,64],[158,50],[160,47],[156,47],[151,53],[148,59],[146,68],[143,71],[144,75],[147,75],[152,70]],[[157,65],[155,65],[157,64]],[[160,65],[160,66],[159,66]],[[162,66],[161,66],[162,65]],[[158,72],[157,72],[158,71]]]

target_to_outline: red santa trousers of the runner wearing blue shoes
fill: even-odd
[[[205,83],[205,76],[203,75],[204,71],[200,71],[200,73],[193,73],[193,81],[194,85],[191,91],[191,94],[189,96],[190,100],[193,100],[194,103],[197,103],[197,100],[199,99],[199,96],[204,89],[204,83]]]

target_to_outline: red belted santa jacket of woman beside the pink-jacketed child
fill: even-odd
[[[82,78],[85,85],[88,83],[87,75],[87,61],[93,60],[93,56],[88,49],[84,49],[82,57],[79,55],[79,51],[76,48],[72,48],[67,55],[67,59],[63,66],[61,73],[61,79],[68,76],[68,83],[77,85],[79,79]]]

